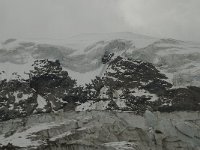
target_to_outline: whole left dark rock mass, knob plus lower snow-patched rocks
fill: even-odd
[[[85,98],[59,61],[37,60],[33,67],[28,80],[0,81],[0,121],[54,112],[66,104],[74,109]]]

